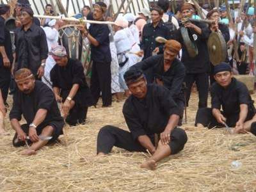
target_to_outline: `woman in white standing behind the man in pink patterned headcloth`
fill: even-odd
[[[49,27],[48,27],[49,26]],[[54,47],[58,45],[58,39],[59,39],[59,25],[58,22],[56,22],[55,19],[51,20],[48,23],[48,26],[43,28],[46,35],[48,50],[51,51],[51,47]],[[56,64],[52,56],[48,56],[45,61],[45,68],[44,68],[44,76],[42,77],[42,82],[47,84],[50,88],[52,88],[52,82],[50,79],[50,72],[52,70],[52,67]]]

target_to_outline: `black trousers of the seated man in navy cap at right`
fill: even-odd
[[[221,111],[221,114],[223,114],[223,111]],[[246,116],[245,121],[251,120],[255,113],[248,112],[248,115]],[[225,118],[227,118],[226,124],[229,127],[236,127],[236,122],[239,120],[239,113],[234,113],[232,115],[225,115]],[[216,120],[216,118],[212,115],[212,108],[200,108],[196,112],[196,124],[202,124],[204,127],[208,127],[211,129],[212,127],[224,127],[223,124],[219,124]]]

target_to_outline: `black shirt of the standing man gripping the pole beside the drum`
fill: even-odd
[[[100,63],[111,62],[111,52],[109,48],[110,31],[108,25],[91,24],[89,33],[99,42],[99,46],[97,47],[91,44],[92,60]]]

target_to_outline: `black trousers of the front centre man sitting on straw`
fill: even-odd
[[[150,140],[154,143],[154,136],[149,136]],[[172,154],[177,154],[184,148],[187,142],[187,134],[183,129],[175,128],[171,133],[171,142],[169,146]],[[131,152],[146,152],[137,140],[132,138],[131,132],[125,131],[112,125],[106,125],[100,129],[97,138],[97,154],[103,152],[108,154],[113,147],[124,148]]]

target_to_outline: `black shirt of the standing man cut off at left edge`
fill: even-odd
[[[13,55],[12,55],[12,40],[10,31],[8,31],[4,26],[5,19],[0,16],[0,46],[3,46],[5,52],[8,56],[8,59],[12,63]],[[0,53],[0,67],[3,67],[3,56]]]

